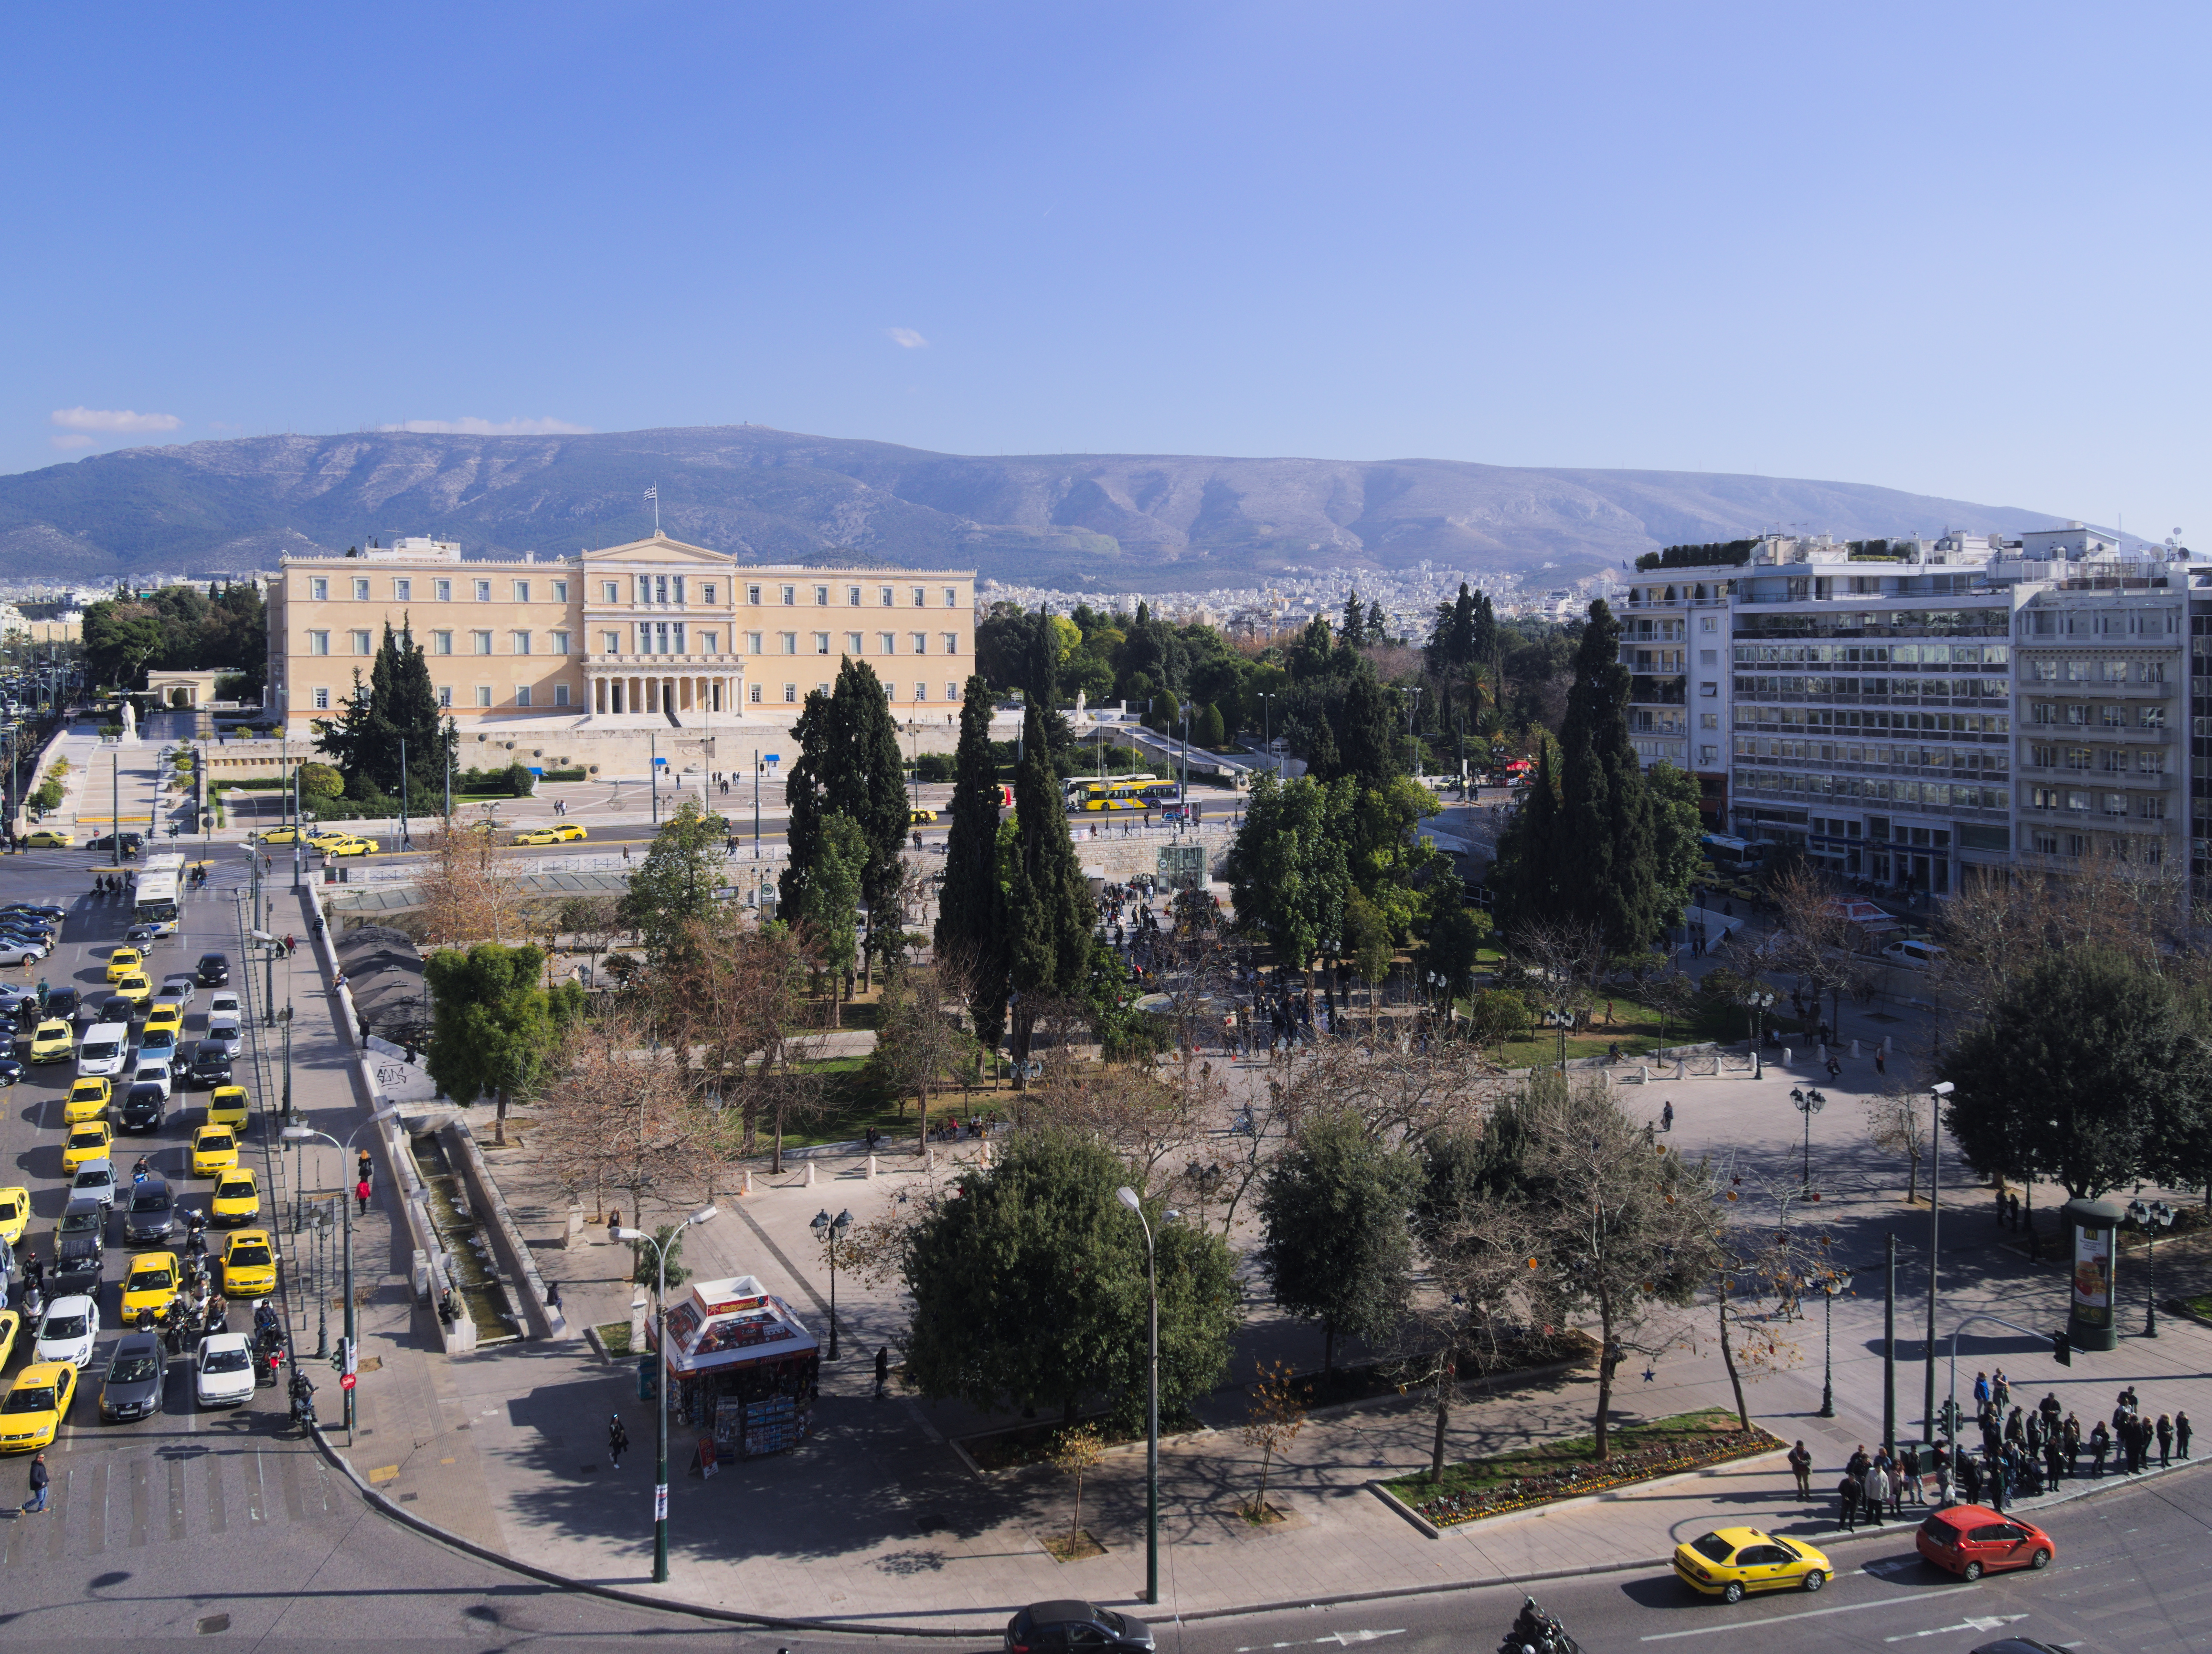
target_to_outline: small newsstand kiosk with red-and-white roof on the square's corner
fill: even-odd
[[[754,1276],[695,1280],[668,1311],[666,1360],[668,1413],[712,1426],[714,1457],[787,1453],[807,1440],[821,1344]]]

